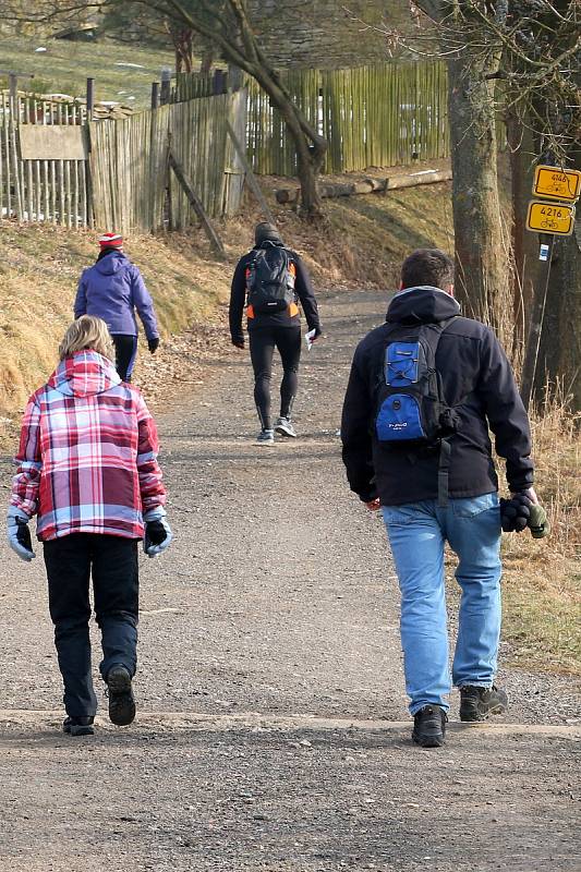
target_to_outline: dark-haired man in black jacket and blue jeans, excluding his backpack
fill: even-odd
[[[401,288],[386,323],[355,350],[344,398],[342,457],[351,489],[371,510],[383,510],[401,590],[401,638],[413,739],[444,743],[448,673],[444,546],[459,564],[462,589],[452,680],[460,688],[460,717],[481,720],[507,708],[494,686],[500,632],[500,510],[496,452],[506,459],[513,494],[532,488],[533,463],[526,412],[510,364],[493,330],[460,317],[453,299],[453,264],[437,249],[413,252],[403,263]],[[441,500],[440,443],[379,443],[375,431],[389,335],[408,325],[444,327],[435,355],[455,432],[445,441],[447,506]],[[384,379],[385,380],[385,379]],[[398,407],[399,408],[399,407]]]

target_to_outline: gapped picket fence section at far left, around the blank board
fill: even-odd
[[[21,131],[28,125],[52,129],[77,126],[85,121],[86,111],[81,104],[0,93],[2,217],[66,227],[84,227],[90,222],[86,161],[23,159],[20,145]]]

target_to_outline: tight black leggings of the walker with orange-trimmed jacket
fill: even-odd
[[[255,327],[249,331],[249,341],[254,368],[254,401],[262,426],[270,429],[270,379],[275,348],[280,353],[283,370],[280,385],[280,416],[290,417],[299,384],[301,327],[300,325]]]

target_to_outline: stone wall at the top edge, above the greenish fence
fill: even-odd
[[[249,8],[261,45],[279,68],[386,61],[388,41],[373,28],[382,22],[410,28],[408,0],[249,0]]]

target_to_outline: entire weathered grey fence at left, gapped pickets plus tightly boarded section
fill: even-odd
[[[170,175],[170,147],[207,215],[234,215],[244,170],[228,124],[244,143],[246,100],[244,90],[87,123],[84,104],[0,94],[0,217],[122,232],[183,229],[196,219]],[[81,154],[26,159],[32,141],[35,158],[51,148],[75,154],[73,141]]]

